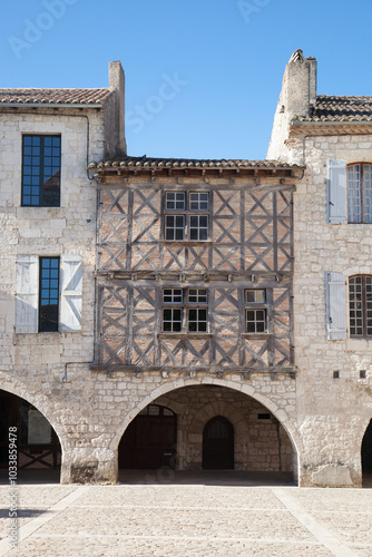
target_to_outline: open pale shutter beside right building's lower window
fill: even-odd
[[[327,339],[346,339],[346,286],[341,273],[326,275],[326,331]]]

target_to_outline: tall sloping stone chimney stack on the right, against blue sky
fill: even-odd
[[[286,65],[280,95],[267,158],[291,162],[285,147],[290,124],[296,116],[310,116],[316,100],[316,60],[304,59],[302,50],[296,50]]]

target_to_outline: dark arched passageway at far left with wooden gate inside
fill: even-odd
[[[30,402],[0,390],[0,469],[9,466],[9,434],[17,433],[18,470],[58,470],[61,447],[45,416]]]

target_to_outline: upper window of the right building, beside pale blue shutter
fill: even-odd
[[[372,165],[347,166],[347,221],[372,223]]]

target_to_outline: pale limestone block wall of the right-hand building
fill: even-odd
[[[372,136],[293,138],[306,172],[294,194],[294,328],[304,485],[360,485],[361,443],[372,418],[371,340],[326,339],[325,273],[372,274],[372,225],[327,224],[326,162],[372,160]],[[365,371],[365,379],[360,371]],[[339,379],[334,378],[339,372]]]

